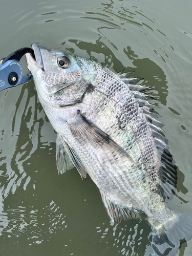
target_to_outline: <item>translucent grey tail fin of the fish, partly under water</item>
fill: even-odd
[[[173,211],[166,223],[153,226],[153,256],[176,256],[181,244],[192,239],[192,216]]]

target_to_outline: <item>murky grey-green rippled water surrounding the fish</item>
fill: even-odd
[[[92,57],[115,72],[135,70],[157,97],[178,166],[169,207],[192,214],[190,1],[10,0],[1,4],[0,57],[40,45]],[[22,60],[26,66],[25,60]],[[27,74],[27,69],[25,68]],[[33,81],[0,94],[0,254],[149,255],[151,227],[111,225],[100,193],[76,169],[58,175],[56,134]],[[191,255],[192,242],[180,256]]]

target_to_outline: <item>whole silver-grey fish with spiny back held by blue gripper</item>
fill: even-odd
[[[71,52],[32,48],[27,65],[57,133],[58,172],[76,167],[82,178],[88,174],[112,221],[148,221],[153,255],[175,256],[192,238],[192,216],[167,207],[177,167],[142,79]]]

